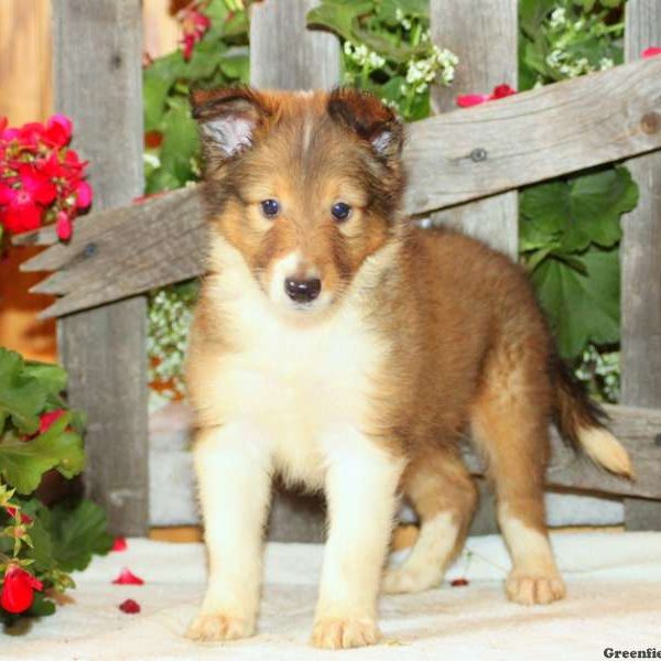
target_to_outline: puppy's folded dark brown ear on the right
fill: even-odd
[[[399,159],[403,126],[391,108],[377,97],[350,87],[335,89],[328,96],[328,115],[369,142],[380,159]]]

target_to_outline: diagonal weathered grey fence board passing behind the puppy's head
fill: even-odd
[[[594,104],[594,98],[599,102]],[[447,207],[660,148],[661,57],[658,57],[411,124],[404,151],[410,172],[407,208],[418,214]],[[475,162],[470,154],[476,149],[484,150],[486,159]],[[199,196],[199,188],[192,188],[189,194]],[[177,193],[169,193],[160,202],[174,195]],[[184,219],[170,213],[166,205],[158,208],[160,231],[164,235],[172,224],[185,223],[192,232],[203,225],[202,210],[198,216],[191,213]],[[140,217],[141,209],[129,207],[116,213],[124,215],[123,223],[132,223]],[[96,214],[86,219],[87,224],[96,226],[90,227],[91,234],[104,231]],[[113,251],[121,243],[118,234],[119,228],[109,237],[106,250]],[[140,289],[133,293],[176,282],[180,278],[176,261],[186,259],[183,246],[163,241],[162,250],[170,266],[160,263],[159,245],[147,235],[138,230],[132,243],[133,252],[140,256],[136,260],[139,267],[132,267],[140,271],[137,278]],[[20,242],[40,242],[40,236],[24,237]],[[204,236],[202,229],[197,236]],[[110,278],[100,269],[89,278],[90,269],[80,266],[82,239],[77,236],[69,246],[51,248],[22,268],[26,271],[53,268],[48,260],[56,248],[58,259],[53,262],[63,273],[50,291],[68,295],[43,316],[100,305],[121,295],[117,288],[108,285]],[[118,254],[116,251],[112,259],[118,259]],[[99,260],[100,251],[88,259]],[[198,272],[203,268],[199,261]],[[130,283],[133,274],[123,271],[122,281]]]

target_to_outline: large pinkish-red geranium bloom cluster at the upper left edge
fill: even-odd
[[[62,240],[71,238],[74,218],[93,197],[87,162],[68,147],[72,130],[64,115],[18,128],[0,117],[0,238],[50,224]]]

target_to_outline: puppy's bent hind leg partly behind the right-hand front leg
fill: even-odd
[[[462,459],[449,449],[414,459],[404,472],[405,496],[421,519],[413,550],[383,578],[387,593],[413,593],[441,584],[464,542],[477,494]]]

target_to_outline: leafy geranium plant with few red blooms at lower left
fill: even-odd
[[[69,573],[112,545],[91,501],[47,508],[35,496],[45,473],[71,479],[85,465],[84,419],[67,408],[65,386],[61,367],[0,348],[0,621],[52,614]]]

